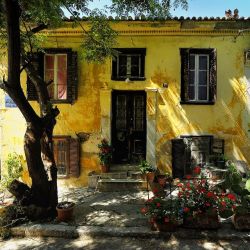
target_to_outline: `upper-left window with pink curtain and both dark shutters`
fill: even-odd
[[[77,53],[71,49],[45,49],[33,54],[33,66],[49,82],[50,98],[55,103],[73,103],[77,97]],[[28,100],[37,100],[34,84],[28,77]]]

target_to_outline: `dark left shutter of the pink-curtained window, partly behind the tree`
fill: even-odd
[[[44,54],[42,52],[33,53],[32,65],[38,74],[44,78]],[[38,99],[35,85],[32,83],[29,77],[27,77],[27,99],[29,101],[35,101]]]

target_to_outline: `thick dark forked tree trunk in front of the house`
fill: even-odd
[[[8,33],[8,80],[0,86],[16,103],[26,122],[24,150],[32,179],[30,204],[51,208],[55,214],[57,205],[57,168],[53,156],[52,135],[56,124],[57,108],[49,103],[46,84],[38,84],[40,108],[45,107],[39,117],[27,101],[20,82],[21,40],[19,1],[5,0]]]

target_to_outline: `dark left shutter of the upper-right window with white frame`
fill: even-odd
[[[180,49],[181,54],[181,101],[188,101],[189,49]]]

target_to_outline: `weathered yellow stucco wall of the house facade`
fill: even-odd
[[[147,92],[147,118],[153,117],[156,121],[155,160],[159,169],[171,170],[170,140],[184,134],[212,134],[224,138],[225,153],[229,158],[250,163],[249,97],[244,68],[244,50],[250,47],[250,36],[248,32],[237,36],[238,30],[230,30],[230,25],[216,30],[215,24],[216,21],[120,21],[113,24],[120,32],[117,47],[146,48],[146,80],[132,83],[111,81],[111,59],[103,65],[78,60],[78,99],[73,105],[58,104],[60,115],[54,134],[76,137],[76,133],[85,132],[90,138],[81,145],[80,178],[61,182],[87,185],[87,174],[99,171],[97,144],[102,135],[110,131],[110,93],[113,89],[154,91],[154,100]],[[83,36],[80,28],[71,29],[69,26],[48,34],[46,47],[79,51]],[[214,105],[180,104],[180,48],[217,50],[217,100]],[[25,76],[23,78],[25,81]],[[165,82],[168,88],[163,88]],[[4,120],[4,151],[22,153],[19,149],[22,139],[17,138],[22,138],[25,124],[20,114],[7,109],[1,116]],[[13,119],[18,121],[18,129],[15,129],[17,122],[9,126]],[[4,141],[12,142],[16,148],[6,146]]]

